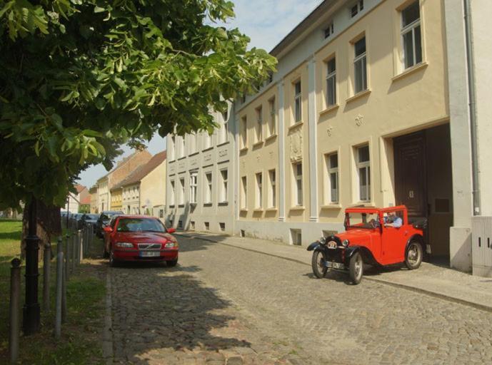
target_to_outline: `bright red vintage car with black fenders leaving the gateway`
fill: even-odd
[[[408,224],[404,205],[387,208],[348,208],[345,232],[311,243],[311,264],[316,277],[328,269],[348,272],[353,284],[361,282],[363,264],[389,265],[404,262],[408,269],[420,267],[426,244],[426,220]]]

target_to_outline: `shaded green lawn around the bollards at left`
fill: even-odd
[[[9,292],[10,262],[21,256],[21,222],[0,220],[0,364],[9,359]],[[61,340],[56,342],[54,331],[54,299],[56,260],[51,261],[49,312],[42,309],[43,270],[39,269],[39,304],[41,331],[21,335],[19,363],[21,364],[101,364],[101,331],[104,324],[104,285],[106,267],[97,259],[101,242],[95,240],[87,259],[69,277],[67,284],[67,322],[61,328]],[[53,252],[56,252],[56,242]],[[94,252],[94,253],[93,253]],[[24,305],[24,262],[21,269],[21,305]]]

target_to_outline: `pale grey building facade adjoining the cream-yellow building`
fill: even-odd
[[[166,224],[183,230],[234,233],[236,185],[231,106],[212,111],[213,135],[168,135]]]

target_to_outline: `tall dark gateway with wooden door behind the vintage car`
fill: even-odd
[[[453,224],[449,125],[394,138],[393,151],[396,205],[406,205],[409,220],[428,219],[431,261],[448,264]]]

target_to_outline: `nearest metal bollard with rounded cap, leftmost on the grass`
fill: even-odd
[[[19,304],[21,302],[21,260],[13,259],[10,269],[10,338],[9,352],[10,362],[15,364],[19,357],[20,316]]]

